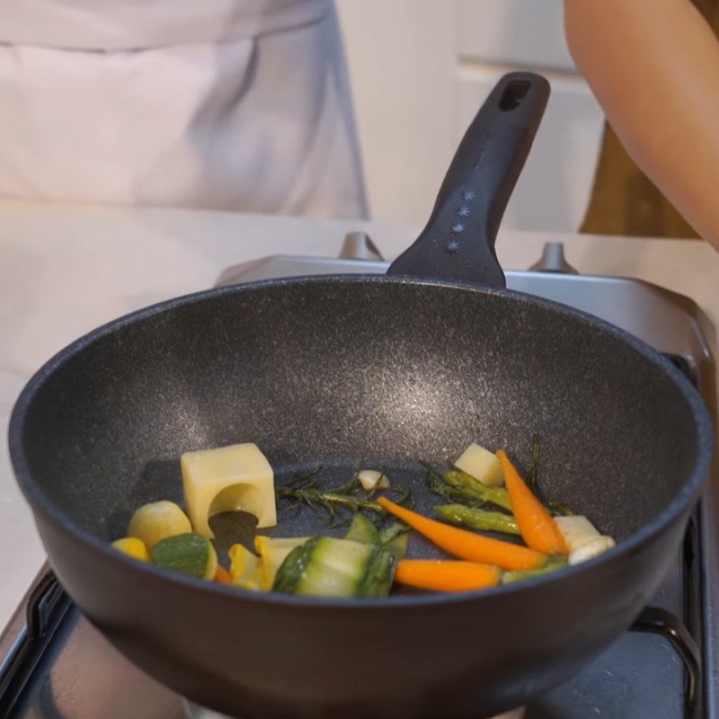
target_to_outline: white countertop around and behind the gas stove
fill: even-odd
[[[335,256],[365,229],[387,259],[416,228],[225,212],[0,202],[0,429],[42,362],[98,324],[208,288],[227,265],[271,254]],[[526,269],[560,240],[577,270],[633,276],[693,297],[719,326],[719,253],[701,242],[501,233],[500,261]],[[31,512],[0,449],[0,632],[43,561]]]

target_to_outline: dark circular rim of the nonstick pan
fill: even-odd
[[[138,562],[127,555],[111,548],[106,543],[96,537],[92,533],[80,527],[74,520],[58,510],[55,505],[49,501],[45,493],[31,475],[29,462],[22,446],[22,430],[27,419],[27,413],[30,409],[32,401],[40,392],[44,383],[53,375],[55,370],[65,364],[69,359],[75,357],[93,342],[97,342],[105,336],[111,334],[115,330],[125,327],[129,324],[138,323],[147,317],[160,314],[165,310],[173,309],[178,306],[187,306],[201,301],[213,299],[215,297],[224,297],[226,295],[241,294],[253,292],[265,288],[283,288],[288,285],[336,285],[336,284],[355,284],[355,283],[371,283],[371,284],[400,284],[422,287],[448,288],[457,291],[471,292],[473,294],[509,297],[518,302],[525,302],[531,305],[543,306],[550,312],[559,313],[571,320],[589,320],[600,331],[608,333],[617,340],[625,342],[634,351],[643,355],[645,359],[660,368],[670,379],[678,386],[681,395],[688,403],[688,408],[692,414],[697,430],[697,452],[694,467],[688,476],[684,486],[672,498],[671,502],[664,507],[650,522],[644,524],[629,537],[622,540],[617,546],[608,550],[608,552],[591,559],[583,564],[575,564],[567,566],[559,573],[549,573],[540,575],[532,579],[518,582],[517,584],[499,585],[485,590],[462,591],[455,593],[428,593],[418,596],[393,596],[383,599],[327,599],[315,597],[296,597],[293,595],[285,595],[273,592],[253,592],[243,590],[238,587],[225,586],[223,584],[209,582],[205,580],[195,579],[181,573],[174,573],[153,564]],[[627,333],[625,330],[600,319],[595,315],[576,309],[571,306],[564,305],[554,300],[544,297],[536,297],[527,293],[510,290],[505,288],[487,288],[477,286],[468,282],[452,281],[452,280],[434,280],[427,278],[417,278],[409,276],[388,276],[376,274],[341,274],[341,275],[315,275],[302,276],[293,278],[280,278],[272,280],[258,280],[242,284],[230,285],[221,288],[210,288],[183,295],[180,297],[172,297],[154,305],[146,306],[122,315],[106,324],[93,329],[89,333],[85,333],[74,342],[70,342],[66,347],[58,351],[50,359],[48,359],[23,386],[22,392],[18,395],[13,412],[11,414],[8,440],[10,448],[11,464],[13,466],[13,474],[15,481],[20,487],[25,500],[30,504],[34,513],[40,512],[52,524],[57,525],[63,531],[72,535],[75,540],[82,542],[85,546],[90,546],[94,551],[100,552],[106,559],[111,562],[120,562],[127,569],[149,573],[155,579],[172,582],[175,585],[181,585],[185,590],[201,590],[217,592],[226,597],[232,597],[237,600],[258,601],[263,604],[275,604],[285,607],[296,608],[337,608],[348,609],[353,611],[357,609],[377,609],[377,608],[419,608],[422,606],[431,606],[434,604],[446,603],[463,603],[466,601],[475,601],[477,599],[493,598],[502,596],[507,592],[519,592],[532,590],[538,586],[555,582],[570,580],[570,578],[579,576],[582,573],[590,572],[594,567],[605,564],[618,559],[621,556],[631,554],[644,544],[651,541],[662,530],[667,528],[671,522],[679,518],[688,506],[691,505],[697,493],[699,493],[702,485],[705,483],[709,475],[709,468],[713,456],[715,445],[715,428],[711,416],[706,409],[704,401],[698,394],[697,390],[688,381],[678,368],[659,351],[652,348],[651,345],[640,340],[635,335]]]

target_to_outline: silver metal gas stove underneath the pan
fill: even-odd
[[[314,274],[383,273],[366,235],[339,258],[268,257],[218,285]],[[716,416],[714,328],[688,297],[639,280],[579,275],[547,244],[507,285],[617,324],[689,377]],[[719,719],[719,472],[688,525],[676,562],[631,631],[564,685],[511,713],[524,719]],[[507,715],[510,716],[510,715]],[[0,719],[216,719],[125,660],[81,616],[49,568],[0,635]]]

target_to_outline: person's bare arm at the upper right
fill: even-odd
[[[689,0],[564,0],[577,67],[635,163],[719,250],[719,41]]]

